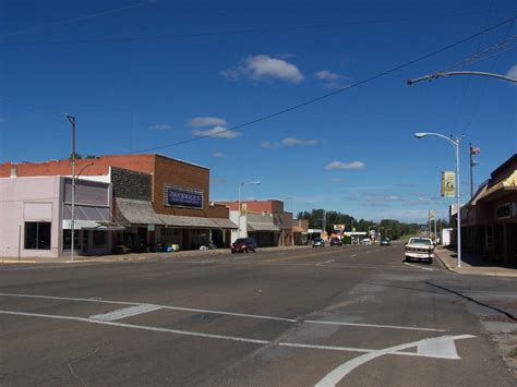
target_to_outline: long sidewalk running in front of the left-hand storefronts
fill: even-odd
[[[279,246],[279,247],[258,247],[258,251],[282,251],[282,250],[296,250],[296,249],[308,249],[311,245],[297,245],[297,246]],[[2,264],[81,264],[81,263],[93,263],[93,262],[123,262],[123,261],[142,261],[147,258],[163,258],[163,259],[184,259],[189,257],[215,257],[217,255],[230,254],[230,249],[217,249],[217,250],[185,250],[173,253],[131,253],[131,254],[113,254],[113,255],[95,255],[95,256],[75,256],[74,261],[70,261],[70,257],[61,258],[22,258],[17,257],[0,257],[0,265]],[[249,253],[253,255],[253,253]]]

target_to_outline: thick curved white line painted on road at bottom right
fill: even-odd
[[[399,346],[377,350],[377,351],[374,351],[374,352],[365,353],[365,354],[362,354],[362,355],[360,355],[356,359],[352,359],[352,360],[339,365],[337,368],[329,372],[315,386],[316,387],[335,386],[345,376],[347,376],[350,372],[352,372],[358,366],[369,362],[370,360],[380,358],[380,356],[385,355],[385,354],[393,354],[393,353],[396,353],[398,351],[401,351],[401,350],[405,350],[405,349],[408,349],[408,348],[418,347],[420,344],[425,346],[425,341],[428,341],[428,340],[436,340],[436,339],[444,339],[444,338],[449,338],[452,340],[460,340],[460,339],[469,339],[469,338],[472,338],[472,337],[476,337],[476,336],[471,336],[471,335],[442,336],[442,337],[438,337],[438,338],[423,339],[423,340],[419,340],[419,341],[408,342],[408,343],[405,343],[405,344],[399,344]],[[449,358],[445,358],[445,359],[449,359]],[[454,358],[454,359],[457,359],[457,358]]]

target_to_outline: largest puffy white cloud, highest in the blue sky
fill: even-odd
[[[294,84],[303,81],[303,74],[294,64],[267,55],[248,57],[241,65],[223,71],[221,75],[232,81],[239,80],[241,76],[254,81],[280,80]]]

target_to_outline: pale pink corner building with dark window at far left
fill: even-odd
[[[60,257],[71,254],[72,179],[33,177],[0,179],[0,257]],[[108,254],[111,185],[76,180],[74,251]]]

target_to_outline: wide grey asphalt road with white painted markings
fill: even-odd
[[[0,385],[515,386],[470,309],[515,281],[402,259],[399,244],[3,266]]]

